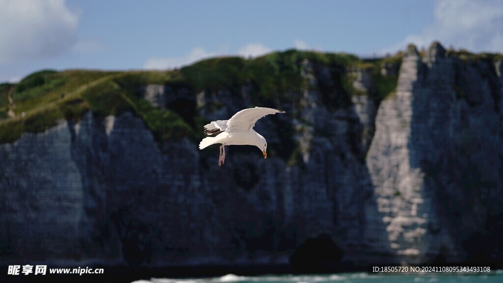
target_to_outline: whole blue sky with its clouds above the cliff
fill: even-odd
[[[0,0],[0,82],[43,68],[165,69],[289,48],[382,55],[412,42],[503,52],[497,0]]]

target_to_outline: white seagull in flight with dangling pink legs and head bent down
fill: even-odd
[[[256,146],[264,153],[264,158],[267,158],[266,139],[257,133],[253,127],[258,119],[276,113],[285,113],[285,111],[264,107],[247,108],[237,112],[228,120],[212,121],[204,126],[204,133],[206,135],[218,133],[218,135],[203,138],[199,143],[199,149],[202,150],[214,144],[222,144],[220,146],[218,166],[225,162],[225,146]]]

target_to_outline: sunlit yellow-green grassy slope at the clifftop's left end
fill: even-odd
[[[132,91],[176,78],[176,72],[44,70],[26,77],[14,87],[14,118],[3,114],[7,113],[7,92],[11,86],[2,84],[0,143],[14,142],[24,132],[43,132],[64,120],[78,122],[90,110],[98,118],[132,112],[145,121],[159,142],[193,138],[193,129],[178,114],[156,109]]]

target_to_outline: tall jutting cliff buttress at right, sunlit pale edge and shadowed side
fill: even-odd
[[[483,62],[448,57],[438,43],[424,59],[410,46],[396,94],[379,106],[367,165],[402,261],[425,262],[441,249],[451,261],[466,259],[463,245],[488,215],[500,214],[502,92],[494,76],[484,78],[489,73]]]

